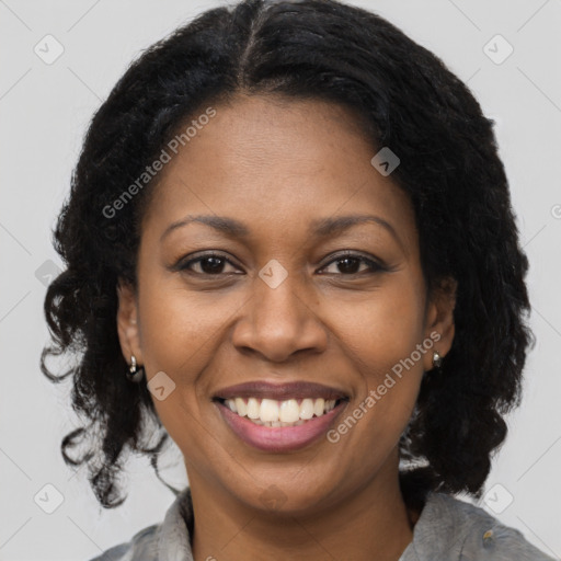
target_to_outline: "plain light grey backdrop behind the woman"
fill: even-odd
[[[508,417],[508,439],[478,504],[561,558],[561,2],[350,3],[378,12],[439,56],[496,122],[530,261],[537,345],[523,405]],[[43,299],[61,266],[50,230],[93,112],[144,48],[221,4],[0,0],[0,560],[90,559],[161,522],[174,499],[148,461],[133,457],[127,501],[105,511],[85,470],[75,474],[64,463],[60,440],[78,424],[69,381],[55,386],[38,368],[48,341]],[[64,51],[47,64],[57,49]],[[176,447],[162,466],[168,482],[186,484]]]

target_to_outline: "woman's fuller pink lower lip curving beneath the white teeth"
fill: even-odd
[[[230,428],[247,444],[264,451],[290,451],[308,446],[322,434],[327,433],[335,417],[346,405],[341,400],[339,405],[329,413],[313,416],[298,426],[262,426],[252,423],[249,419],[233,413],[221,402],[215,402],[222,419]]]

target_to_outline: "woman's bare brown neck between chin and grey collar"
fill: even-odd
[[[218,482],[190,472],[194,559],[398,561],[413,539],[417,513],[408,512],[397,463],[388,463],[385,472],[313,514],[252,507]]]

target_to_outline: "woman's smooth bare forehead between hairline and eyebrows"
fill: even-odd
[[[148,213],[151,227],[163,231],[185,215],[215,214],[236,216],[250,234],[283,228],[308,236],[318,219],[369,213],[414,241],[409,197],[371,165],[377,149],[350,111],[241,95],[213,108],[215,116],[170,152]]]

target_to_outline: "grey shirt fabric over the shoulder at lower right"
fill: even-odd
[[[410,553],[412,557],[402,560],[552,561],[519,530],[505,526],[483,508],[445,493],[427,495]]]

